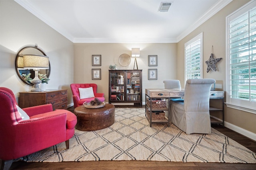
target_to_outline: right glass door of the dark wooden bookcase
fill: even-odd
[[[140,101],[140,72],[126,74],[126,101]]]

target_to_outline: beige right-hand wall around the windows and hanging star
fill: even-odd
[[[233,0],[225,8],[204,22],[200,27],[178,42],[177,45],[177,77],[184,87],[184,43],[203,32],[203,78],[214,78],[216,80],[216,90],[226,91],[226,16],[249,2],[249,0]],[[213,53],[215,58],[222,58],[217,64],[218,71],[206,72],[207,61]],[[218,116],[218,114],[214,114]],[[220,117],[221,118],[221,117]],[[225,105],[225,121],[237,127],[256,133],[256,114],[248,113],[236,109],[231,109]],[[239,128],[238,128],[239,129]]]

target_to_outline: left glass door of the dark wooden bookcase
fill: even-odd
[[[111,72],[111,90],[110,100],[123,101],[124,100],[124,72]]]

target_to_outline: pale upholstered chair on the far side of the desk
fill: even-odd
[[[181,89],[181,86],[180,86],[180,80],[164,80],[164,88],[165,89],[178,89],[180,90]],[[172,104],[172,102],[181,102],[180,100],[178,99],[173,99],[173,100],[170,100],[170,105]],[[182,100],[183,102],[183,100]],[[168,99],[166,100],[166,107],[168,108],[169,107],[169,102],[168,102]],[[169,117],[168,116],[168,111],[165,111],[165,115],[166,117]],[[172,121],[172,120],[171,120]]]

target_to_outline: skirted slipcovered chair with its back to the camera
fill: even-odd
[[[171,105],[171,120],[187,134],[211,133],[209,112],[210,89],[214,79],[189,79],[186,81],[184,102]]]

